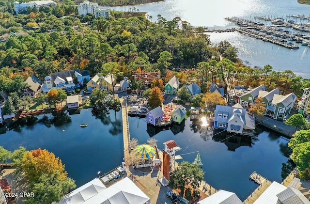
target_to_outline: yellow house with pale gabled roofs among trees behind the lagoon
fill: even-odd
[[[115,87],[116,78],[114,75],[107,75],[105,77],[96,74],[89,82],[87,82],[87,90],[92,91],[95,88],[100,88],[101,90],[111,90],[113,85]]]

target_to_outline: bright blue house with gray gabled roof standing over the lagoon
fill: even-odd
[[[232,107],[217,105],[214,114],[215,128],[244,135],[250,135],[255,129],[254,117],[238,103]]]

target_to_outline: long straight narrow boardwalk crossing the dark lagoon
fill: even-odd
[[[128,124],[128,115],[127,115],[127,100],[120,98],[122,104],[122,119],[123,119],[123,141],[124,141],[124,161],[129,158],[130,152],[130,132]]]

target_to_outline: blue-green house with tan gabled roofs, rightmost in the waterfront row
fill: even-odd
[[[291,113],[294,107],[296,95],[294,93],[280,95],[279,89],[270,92],[260,91],[258,97],[263,98],[263,104],[266,108],[264,115],[271,116],[276,120],[282,120]]]

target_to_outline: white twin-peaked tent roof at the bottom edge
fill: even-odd
[[[99,178],[68,193],[57,204],[146,204],[150,198],[129,178],[106,187]]]

